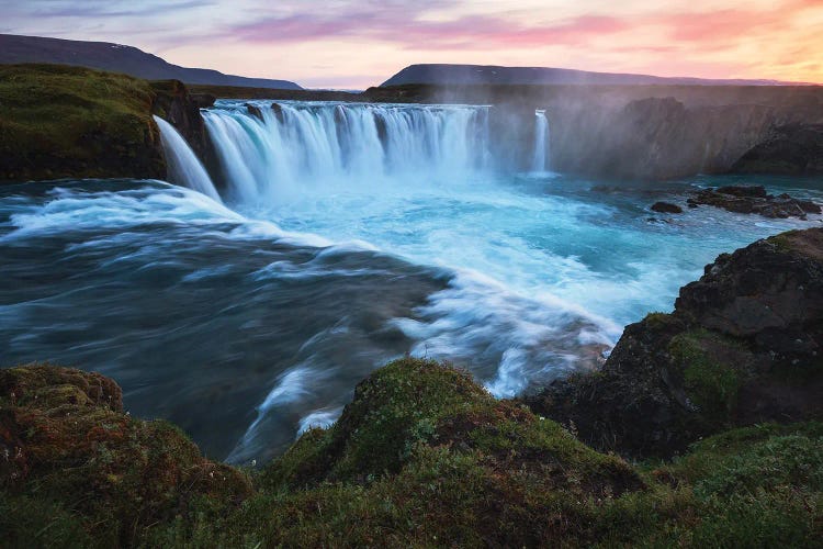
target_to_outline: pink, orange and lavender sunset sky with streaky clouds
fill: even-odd
[[[0,33],[309,88],[416,63],[823,82],[823,0],[0,0]]]

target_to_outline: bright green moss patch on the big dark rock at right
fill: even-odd
[[[717,358],[719,336],[703,329],[675,336],[668,346],[674,363],[683,372],[689,399],[713,421],[725,421],[734,411],[741,386],[736,368]]]

